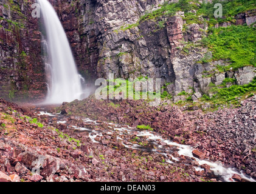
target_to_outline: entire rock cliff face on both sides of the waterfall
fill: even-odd
[[[193,94],[196,101],[205,93],[212,95],[209,92],[211,82],[218,85],[225,78],[234,78],[236,84],[242,85],[251,82],[256,75],[255,67],[216,72],[210,76],[206,73],[214,70],[217,64],[225,66],[229,62],[198,62],[212,55],[199,44],[207,33],[205,22],[187,24],[184,12],[140,19],[161,7],[164,0],[49,1],[60,16],[78,70],[88,84],[94,84],[99,77],[107,78],[108,73],[125,79],[162,78],[162,86],[175,96],[175,102],[185,98],[178,95],[183,91]],[[31,4],[32,1],[22,0],[0,3],[0,90],[4,91],[5,98],[13,98],[13,92],[15,97],[27,92],[29,96],[36,93],[41,98],[46,93],[44,64],[39,57],[40,19],[31,17]],[[235,24],[250,25],[255,20],[252,10],[237,15]],[[18,28],[16,22],[22,27]],[[230,22],[223,22],[215,27],[229,25]]]

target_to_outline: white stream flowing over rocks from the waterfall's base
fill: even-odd
[[[56,117],[57,115],[52,115],[46,112],[40,112],[40,115],[49,115]],[[60,119],[57,121],[60,126],[70,126],[72,121],[63,116],[57,116]],[[239,170],[231,167],[225,167],[221,162],[210,161],[204,155],[204,153],[199,152],[193,147],[186,146],[183,144],[178,144],[176,142],[170,141],[169,139],[164,139],[159,133],[148,131],[148,130],[138,130],[136,127],[129,127],[127,125],[114,124],[111,122],[103,121],[92,121],[88,118],[75,118],[77,120],[83,121],[84,127],[72,126],[78,132],[88,132],[89,138],[92,142],[100,143],[105,146],[112,144],[114,146],[116,141],[119,146],[125,149],[139,150],[144,153],[153,153],[154,155],[164,156],[163,162],[168,162],[170,164],[181,163],[195,167],[196,170],[207,169],[207,176],[216,176],[223,181],[230,181],[234,177],[240,177],[244,181],[255,181],[249,178],[244,173],[239,172]],[[63,125],[64,124],[64,125]],[[80,126],[81,124],[78,124]],[[106,125],[108,128],[105,130],[98,129],[100,125]],[[131,142],[133,139],[133,142]],[[115,146],[114,146],[115,147]],[[93,162],[93,161],[92,161]],[[96,162],[96,161],[94,161]],[[239,174],[239,175],[238,175]],[[164,180],[164,176],[161,176],[161,180]]]

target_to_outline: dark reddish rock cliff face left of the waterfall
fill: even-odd
[[[43,98],[41,33],[32,18],[33,1],[0,2],[0,90],[10,100]]]

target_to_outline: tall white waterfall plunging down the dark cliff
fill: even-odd
[[[59,104],[80,99],[83,94],[81,76],[71,52],[66,33],[54,7],[47,0],[37,0],[46,30],[47,62],[49,90],[46,103]],[[50,71],[50,72],[49,72]]]

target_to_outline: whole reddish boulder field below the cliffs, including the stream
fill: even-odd
[[[111,102],[1,100],[1,181],[255,181],[255,97],[210,113]]]

